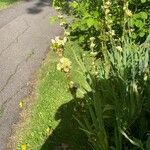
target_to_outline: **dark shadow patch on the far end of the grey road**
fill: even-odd
[[[33,7],[27,9],[27,12],[29,14],[38,14],[43,11],[43,7],[48,6],[50,6],[50,0],[38,0]]]

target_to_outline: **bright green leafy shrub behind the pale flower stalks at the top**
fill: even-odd
[[[127,34],[137,43],[146,39],[150,31],[149,1],[112,0],[108,6],[106,4],[105,0],[76,0],[73,2],[55,0],[55,5],[59,5],[64,11],[67,10],[69,15],[74,16],[69,27],[72,34],[85,47],[89,46],[88,39],[93,36],[101,42],[105,38],[103,34],[109,30],[109,25],[115,31],[115,38],[121,38],[126,30]],[[128,11],[131,11],[132,14]],[[97,47],[99,51],[101,45],[97,43]]]

